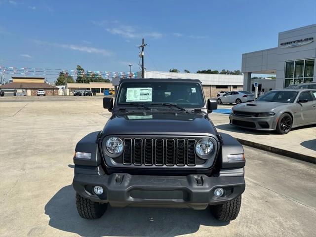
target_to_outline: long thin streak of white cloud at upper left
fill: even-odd
[[[51,42],[46,42],[46,41],[41,41],[41,40],[33,40],[33,41],[41,45],[49,45],[49,46],[55,46],[59,48],[68,48],[68,49],[81,51],[81,52],[87,52],[87,53],[97,53],[97,54],[102,54],[103,56],[113,55],[112,52],[102,49],[102,48],[86,47],[86,46],[75,45],[75,44],[51,43]]]

